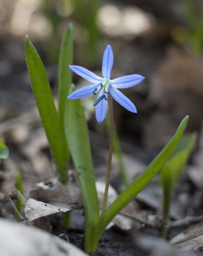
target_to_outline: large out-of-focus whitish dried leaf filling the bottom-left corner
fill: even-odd
[[[87,256],[72,244],[40,229],[0,219],[3,256]]]

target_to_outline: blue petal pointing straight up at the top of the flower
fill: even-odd
[[[114,55],[113,55],[112,48],[110,45],[107,45],[104,51],[102,68],[101,68],[103,77],[107,77],[110,79],[113,62],[114,62]]]

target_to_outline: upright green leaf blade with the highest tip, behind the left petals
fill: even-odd
[[[65,31],[59,54],[58,68],[58,116],[62,129],[64,129],[65,102],[72,83],[72,71],[69,65],[73,61],[73,25]]]

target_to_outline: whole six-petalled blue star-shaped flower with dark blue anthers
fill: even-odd
[[[130,101],[122,92],[117,88],[129,88],[140,83],[144,77],[141,75],[133,74],[121,76],[116,79],[110,80],[111,69],[113,66],[113,51],[110,45],[107,45],[102,61],[102,77],[95,75],[93,72],[81,66],[69,66],[69,68],[76,74],[82,76],[93,84],[87,85],[83,88],[72,92],[68,99],[79,99],[90,94],[97,95],[97,100],[94,102],[96,119],[101,123],[107,114],[107,95],[110,93],[112,97],[127,110],[137,113],[135,105]]]

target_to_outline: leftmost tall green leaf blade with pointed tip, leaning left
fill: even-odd
[[[68,179],[69,157],[67,145],[59,124],[56,107],[49,86],[49,81],[36,49],[28,36],[25,39],[25,53],[31,86],[46,133],[49,146],[56,164],[56,170],[61,182]]]

